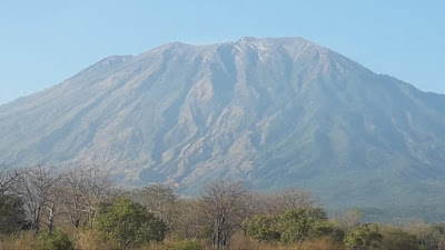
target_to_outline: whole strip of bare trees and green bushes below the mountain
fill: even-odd
[[[306,190],[219,180],[198,198],[168,184],[117,188],[100,167],[0,166],[0,249],[445,249],[445,224],[328,218]]]

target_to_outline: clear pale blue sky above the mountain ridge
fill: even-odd
[[[445,1],[0,0],[0,103],[171,41],[303,37],[445,93]]]

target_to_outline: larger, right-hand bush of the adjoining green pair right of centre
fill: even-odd
[[[319,208],[290,209],[280,217],[281,242],[301,242],[308,238],[327,236],[333,224]]]

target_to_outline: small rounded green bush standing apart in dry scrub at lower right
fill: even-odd
[[[345,244],[355,250],[377,248],[383,236],[375,223],[364,223],[348,231],[345,236]]]

